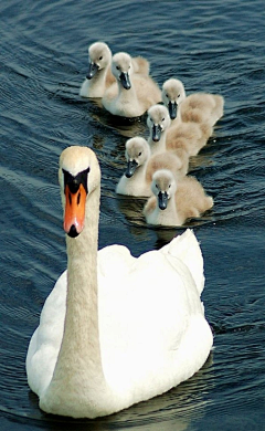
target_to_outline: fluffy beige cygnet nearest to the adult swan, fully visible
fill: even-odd
[[[198,218],[213,206],[212,197],[205,195],[194,177],[177,180],[168,169],[153,174],[151,190],[155,196],[144,208],[149,224],[182,225],[187,219]]]

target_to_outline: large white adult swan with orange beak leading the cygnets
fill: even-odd
[[[132,257],[97,251],[100,170],[86,147],[60,158],[67,271],[49,295],[26,355],[49,413],[96,418],[162,393],[205,362],[203,260],[192,231]]]

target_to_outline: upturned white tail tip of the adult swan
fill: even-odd
[[[199,294],[204,287],[203,257],[200,244],[192,230],[176,236],[169,244],[161,249],[162,253],[171,254],[180,259],[190,270]]]

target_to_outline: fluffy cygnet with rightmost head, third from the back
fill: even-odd
[[[223,96],[193,93],[187,97],[184,85],[180,80],[170,78],[163,83],[162,101],[169,109],[170,118],[177,118],[177,122],[181,119],[182,122],[209,123],[210,126],[214,126],[223,116]]]

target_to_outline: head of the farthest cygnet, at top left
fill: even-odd
[[[87,80],[92,80],[98,71],[107,67],[112,62],[112,51],[104,42],[95,42],[88,46],[89,65]]]

